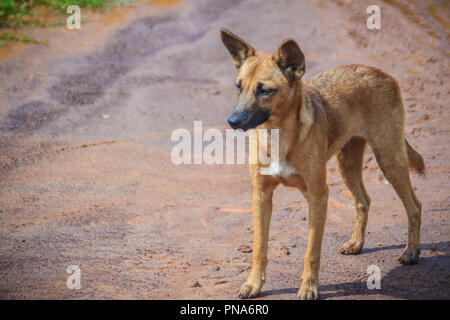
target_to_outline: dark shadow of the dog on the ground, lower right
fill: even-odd
[[[431,250],[435,255],[420,257],[412,266],[398,265],[388,274],[381,272],[381,289],[368,289],[367,277],[360,281],[325,284],[320,286],[320,298],[340,298],[346,296],[382,295],[397,299],[450,299],[450,242],[425,243],[422,251]],[[403,248],[386,246],[363,249],[361,254],[380,250]],[[271,295],[296,294],[298,288],[284,288],[262,292],[261,297]],[[370,297],[369,297],[370,298]]]

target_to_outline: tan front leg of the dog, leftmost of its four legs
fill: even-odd
[[[238,290],[241,299],[257,297],[266,277],[272,196],[277,186],[270,178],[253,176],[253,264],[247,281]]]

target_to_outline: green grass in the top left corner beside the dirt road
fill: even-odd
[[[48,27],[66,23],[65,17],[56,21],[40,17],[36,10],[39,7],[47,7],[65,14],[70,5],[78,5],[80,8],[104,9],[124,2],[125,0],[0,0],[0,28]],[[5,46],[7,41],[48,43],[35,40],[28,35],[21,37],[13,32],[0,32],[0,47]]]

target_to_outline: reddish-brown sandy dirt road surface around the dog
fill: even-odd
[[[382,29],[366,28],[378,4]],[[406,136],[427,175],[418,265],[397,262],[407,235],[401,201],[371,151],[372,199],[362,254],[343,256],[354,208],[328,166],[323,299],[450,298],[446,1],[138,1],[87,19],[79,31],[37,29],[49,46],[0,50],[0,298],[234,299],[251,265],[246,165],[174,165],[172,130],[227,128],[235,69],[219,30],[256,48],[298,41],[306,78],[363,63],[400,83]],[[307,205],[279,187],[261,299],[295,299]],[[66,287],[70,265],[81,289]],[[381,289],[366,286],[381,269]]]

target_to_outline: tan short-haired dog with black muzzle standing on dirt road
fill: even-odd
[[[399,261],[417,263],[422,205],[411,186],[408,167],[423,173],[425,165],[404,137],[405,112],[395,79],[376,68],[347,65],[303,83],[305,58],[294,40],[285,40],[271,54],[255,51],[225,29],[221,30],[221,38],[239,70],[238,102],[228,118],[230,126],[243,130],[279,129],[278,169],[262,175],[259,160],[250,164],[253,265],[238,296],[252,298],[261,292],[266,278],[272,195],[282,183],[298,188],[309,206],[308,246],[298,296],[319,298],[320,251],[328,204],[326,163],[333,155],[356,208],[353,234],[340,252],[361,251],[370,205],[362,182],[366,144],[371,146],[408,214],[408,243]],[[259,145],[258,140],[255,143]]]

